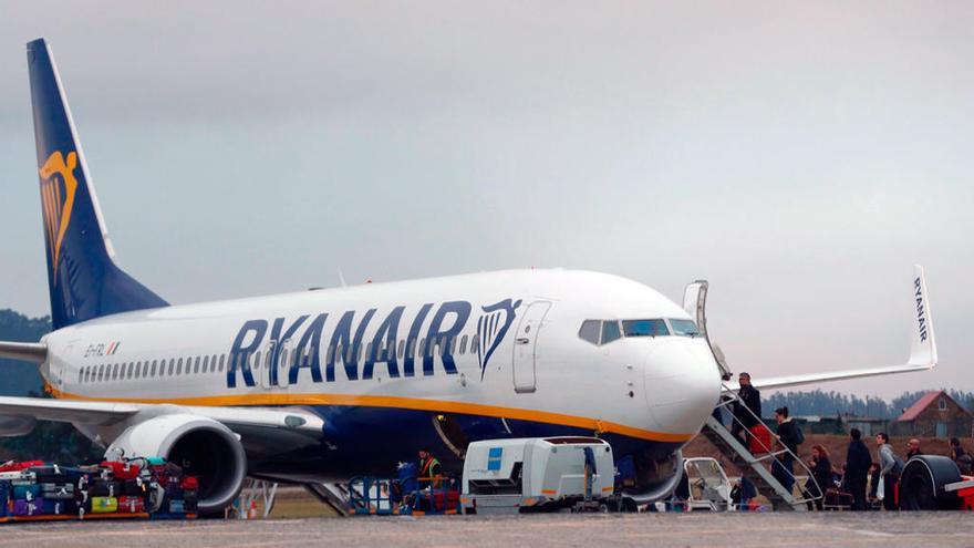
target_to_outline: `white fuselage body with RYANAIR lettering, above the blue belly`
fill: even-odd
[[[690,318],[614,276],[498,271],[108,316],[49,334],[42,371],[64,399],[419,410],[683,445],[719,395],[709,348],[580,337],[626,319]]]

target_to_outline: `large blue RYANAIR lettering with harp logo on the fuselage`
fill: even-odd
[[[520,300],[504,299],[480,307],[483,316],[474,334],[464,333],[473,306],[447,301],[435,312],[434,303],[415,310],[394,307],[384,317],[375,308],[341,314],[322,312],[293,319],[255,319],[244,322],[230,347],[227,387],[258,382],[270,386],[297,384],[301,375],[311,381],[365,381],[375,375],[390,379],[429,376],[437,363],[448,375],[457,374],[455,354],[477,355],[480,379],[502,342]],[[407,313],[408,312],[408,313]],[[424,330],[423,325],[428,327]],[[374,331],[370,325],[377,325]],[[366,331],[372,334],[366,335]],[[323,366],[322,366],[323,365]],[[307,370],[307,373],[302,373]],[[340,371],[341,373],[336,373]]]

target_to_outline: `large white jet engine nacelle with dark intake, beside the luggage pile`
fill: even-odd
[[[121,452],[121,453],[120,453]],[[199,478],[200,514],[222,511],[240,493],[247,457],[224,424],[188,413],[160,415],[129,426],[105,455],[160,456]]]

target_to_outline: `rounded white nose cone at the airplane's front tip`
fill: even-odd
[[[703,339],[657,339],[646,358],[645,383],[661,432],[695,434],[721,397],[721,374]]]

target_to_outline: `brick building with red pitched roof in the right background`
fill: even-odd
[[[941,390],[916,400],[891,426],[900,436],[967,437],[974,432],[974,414]]]

